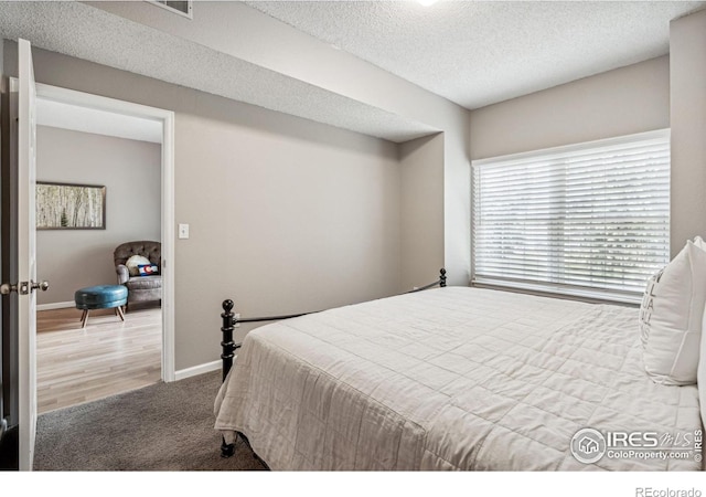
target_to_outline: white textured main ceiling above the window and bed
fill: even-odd
[[[706,2],[246,2],[467,108],[668,52],[670,20]]]

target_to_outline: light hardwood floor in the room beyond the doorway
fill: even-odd
[[[157,383],[161,378],[160,308],[92,310],[86,328],[78,309],[36,313],[40,413]]]

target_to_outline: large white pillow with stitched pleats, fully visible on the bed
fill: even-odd
[[[698,244],[703,241],[698,239]],[[655,383],[696,383],[704,304],[706,251],[691,240],[650,278],[640,308],[643,361]]]

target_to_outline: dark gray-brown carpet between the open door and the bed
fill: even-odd
[[[264,469],[242,442],[221,457],[213,401],[221,372],[41,414],[35,470]]]

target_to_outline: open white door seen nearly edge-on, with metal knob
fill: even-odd
[[[34,188],[36,88],[32,47],[18,41],[18,421],[20,470],[31,470],[36,434],[36,294]]]

